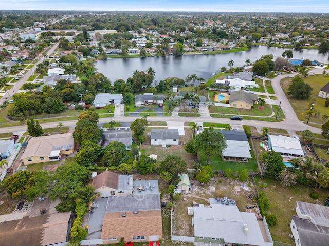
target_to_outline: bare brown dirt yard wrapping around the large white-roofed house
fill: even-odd
[[[174,203],[172,218],[172,235],[194,236],[194,228],[192,226],[193,215],[188,215],[188,207],[193,206],[193,202],[200,204],[209,204],[209,198],[217,198],[226,196],[236,201],[240,211],[246,211],[248,204],[255,204],[248,196],[254,193],[253,185],[248,186],[247,183],[241,183],[237,180],[227,180],[224,177],[213,177],[207,185],[202,185],[198,181],[191,180],[192,190],[181,195],[179,202]],[[248,191],[234,191],[234,186],[250,188]]]

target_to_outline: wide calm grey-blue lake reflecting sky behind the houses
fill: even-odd
[[[242,67],[246,59],[253,63],[262,55],[272,54],[273,60],[281,57],[288,49],[279,47],[253,46],[251,50],[215,55],[182,55],[159,56],[146,58],[115,58],[110,60],[99,60],[94,63],[99,73],[108,77],[112,83],[117,79],[126,80],[133,76],[135,70],[146,71],[149,67],[155,69],[155,81],[159,82],[168,77],[185,79],[187,75],[196,74],[206,81],[213,77],[212,73],[220,72],[222,67],[229,68],[229,60],[234,61],[233,67]],[[294,58],[317,60],[327,62],[328,56],[320,54],[318,50],[293,50]]]

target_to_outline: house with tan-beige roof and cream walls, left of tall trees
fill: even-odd
[[[72,133],[32,137],[21,156],[24,165],[60,160],[74,152]]]

